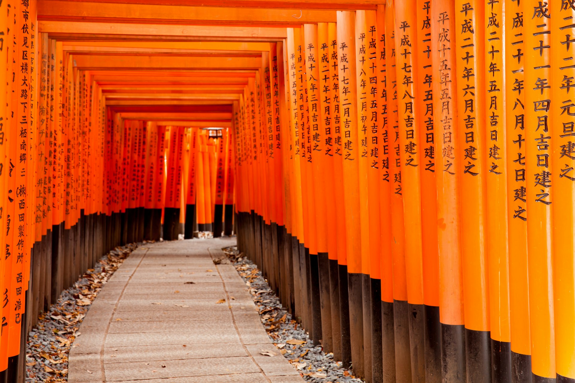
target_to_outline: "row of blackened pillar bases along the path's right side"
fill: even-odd
[[[227,222],[227,206],[225,214]],[[489,332],[440,323],[439,307],[382,301],[383,281],[348,273],[328,253],[310,254],[285,227],[254,211],[237,213],[235,222],[240,252],[309,338],[368,383],[555,381],[534,376],[530,355],[513,353]]]

